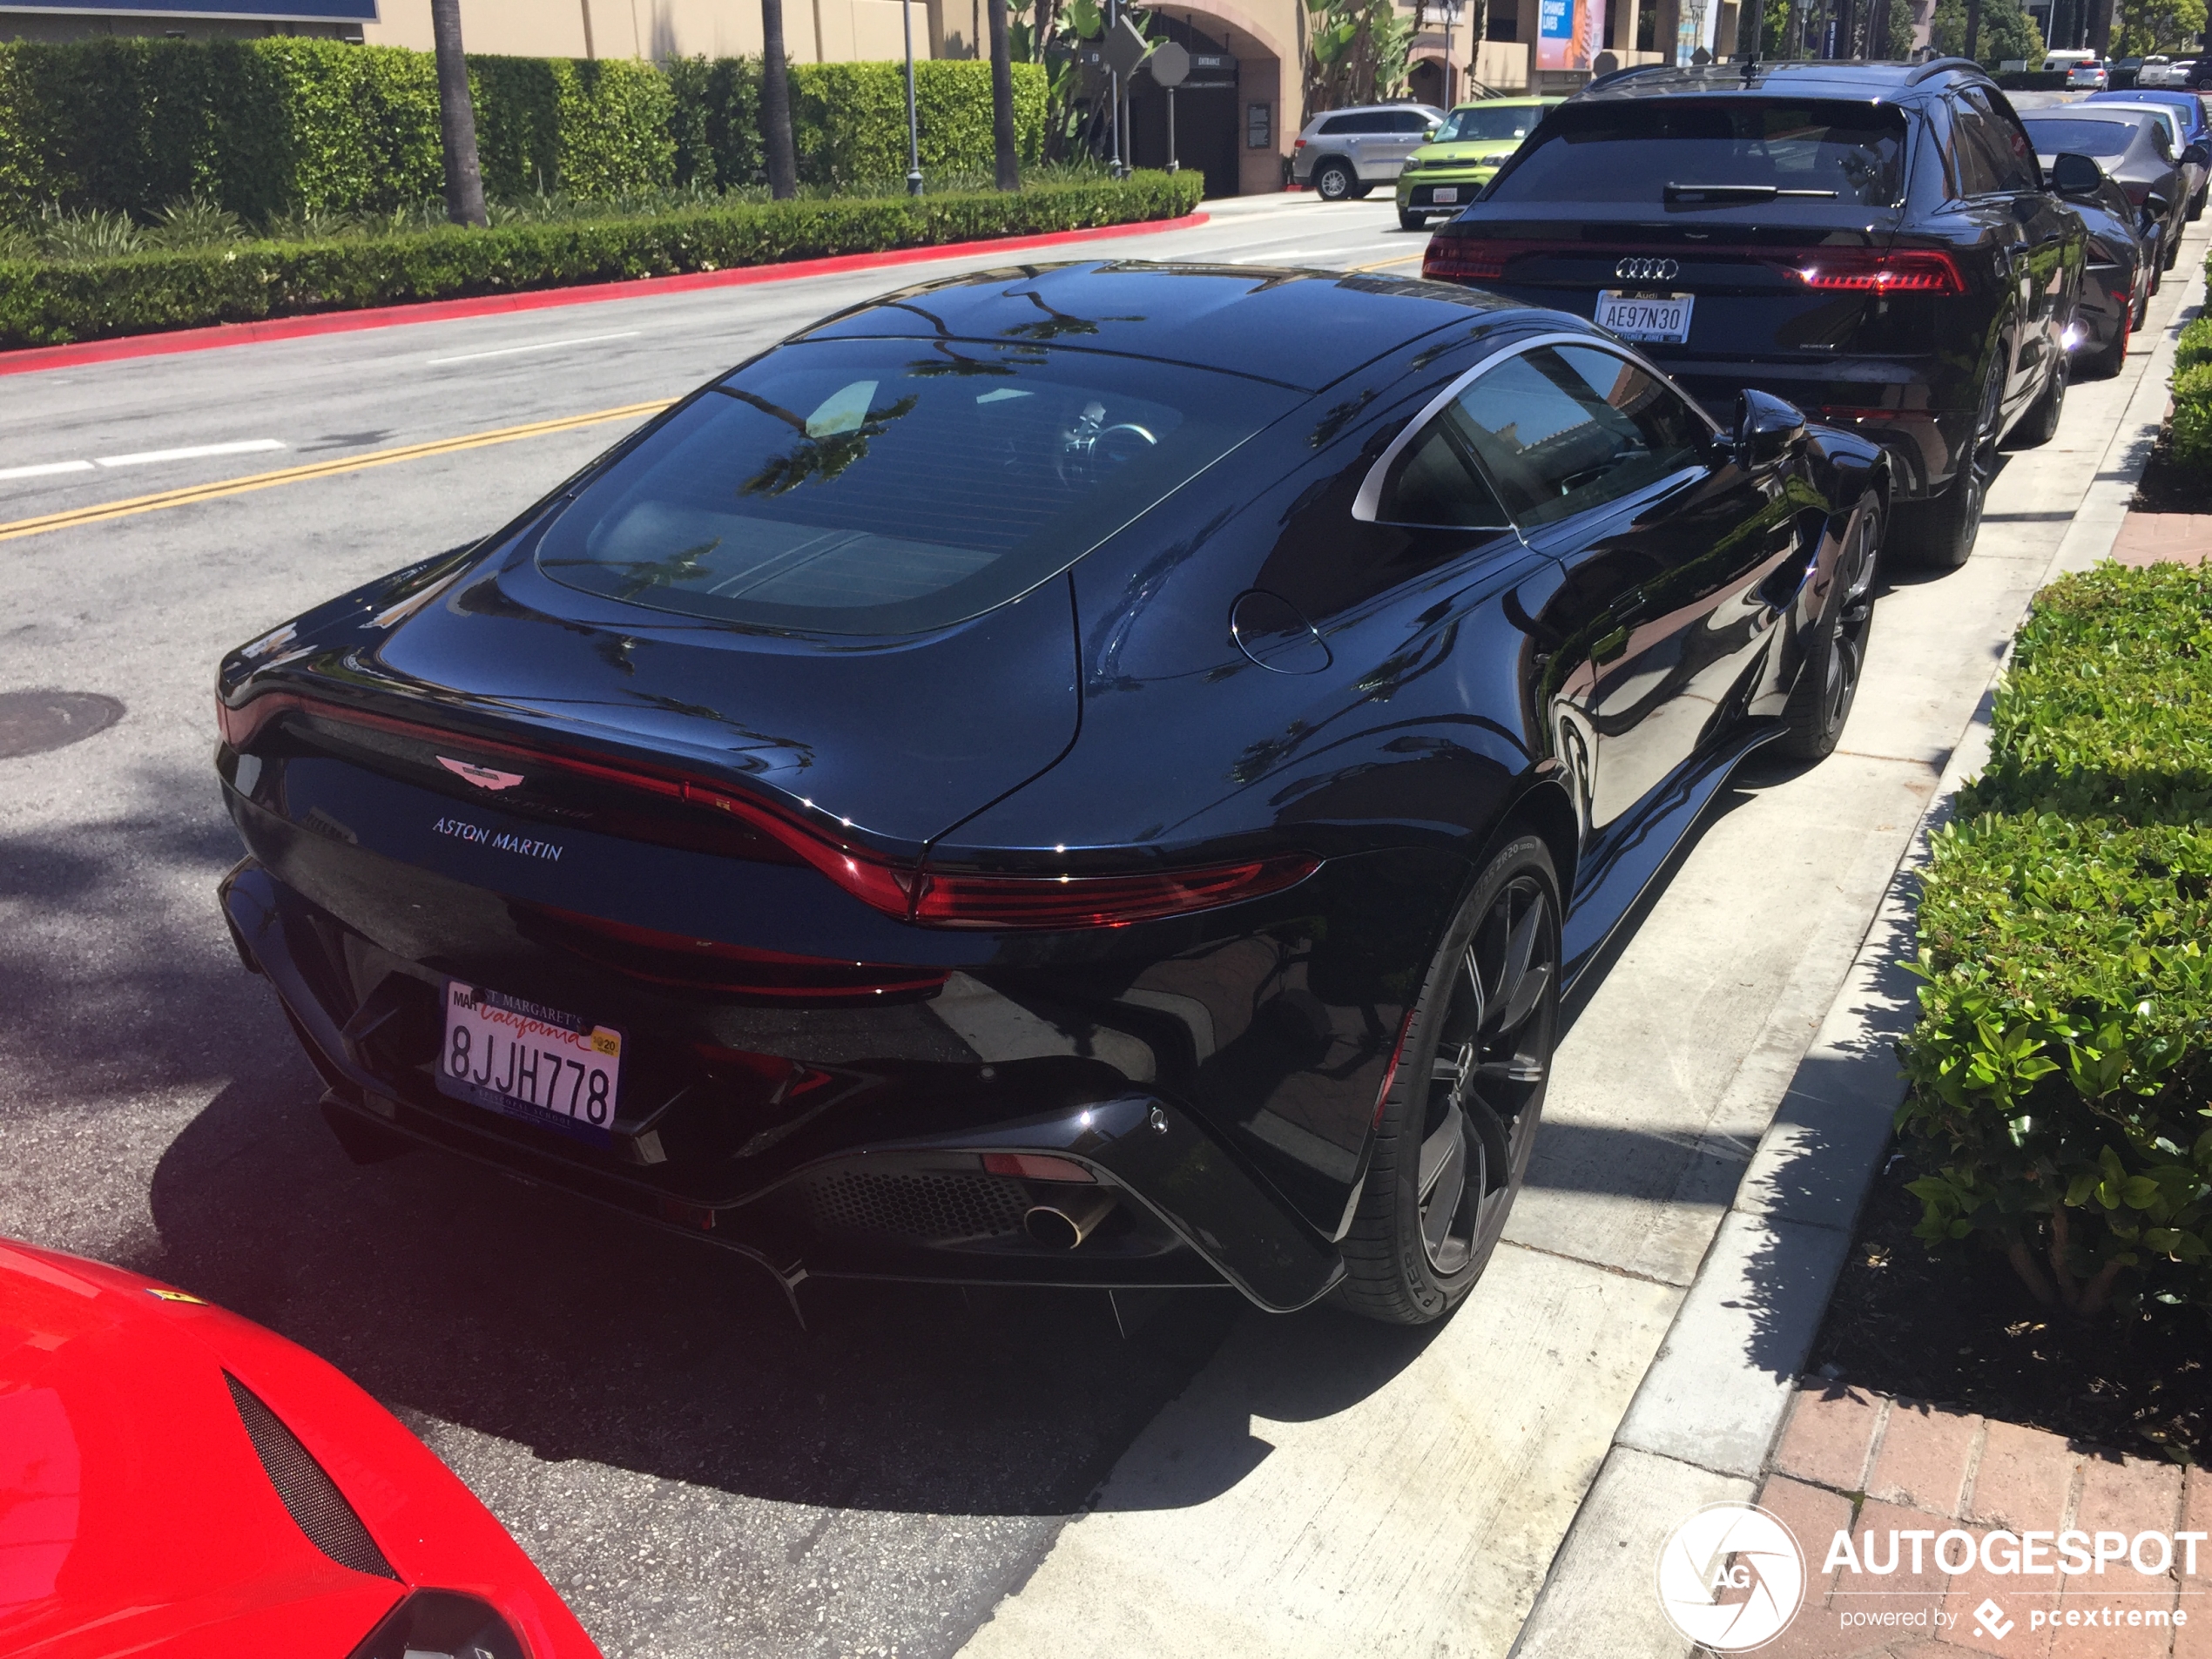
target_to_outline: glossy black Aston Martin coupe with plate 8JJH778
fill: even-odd
[[[927,283],[226,657],[221,902],[354,1157],[1429,1321],[1562,991],[1834,748],[1885,467],[1444,283]]]

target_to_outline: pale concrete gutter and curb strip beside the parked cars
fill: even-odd
[[[2000,476],[1966,568],[1889,575],[1845,748],[1708,812],[1562,1042],[1469,1303],[1245,1318],[967,1659],[1688,1652],[1659,1542],[1756,1491],[1889,1133],[1900,860],[2028,597],[2119,529],[2174,288]]]

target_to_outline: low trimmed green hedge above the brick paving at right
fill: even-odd
[[[1898,1113],[1920,1237],[2084,1314],[2212,1312],[2212,568],[2037,595],[1958,807]]]

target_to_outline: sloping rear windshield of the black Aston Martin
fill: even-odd
[[[1033,341],[805,341],[593,480],[538,564],[688,617],[920,633],[1066,568],[1296,403]]]

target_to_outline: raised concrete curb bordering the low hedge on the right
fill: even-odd
[[[2166,418],[2181,325],[2203,305],[2203,288],[2199,270],[2037,586],[2110,553]],[[1759,1139],[1509,1659],[1692,1652],[1666,1624],[1650,1573],[1668,1533],[1694,1509],[1750,1500],[1781,1433],[1905,1102],[1893,1044],[1911,1031],[1918,1006],[1902,967],[1911,958],[1913,883],[1960,783],[1989,759],[1991,708],[2006,661],[2011,648],[1944,763],[1851,971]]]

